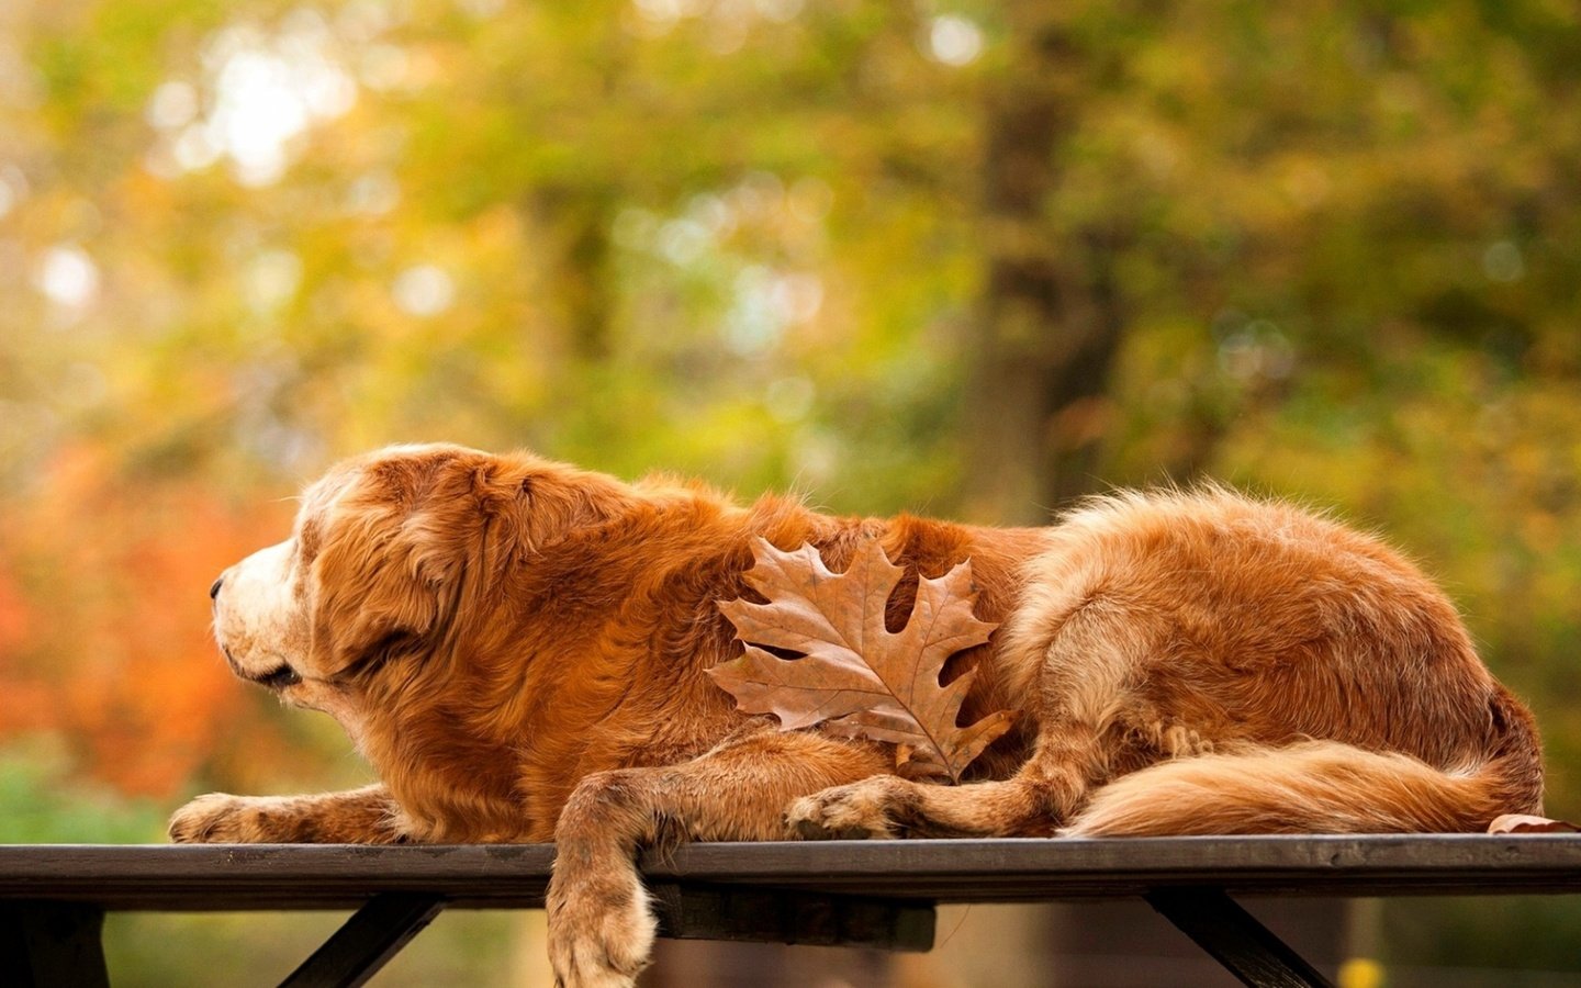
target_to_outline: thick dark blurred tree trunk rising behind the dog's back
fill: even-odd
[[[1110,419],[1121,302],[1102,231],[1056,236],[1050,196],[1078,120],[1085,52],[1058,5],[1012,3],[1012,55],[985,107],[988,278],[968,340],[964,511],[1037,523],[1091,492]]]

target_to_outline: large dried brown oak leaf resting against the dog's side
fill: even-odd
[[[708,670],[741,710],[775,715],[781,730],[824,724],[843,737],[893,743],[901,775],[957,782],[1010,729],[1010,711],[957,726],[975,669],[939,684],[945,659],[982,645],[996,628],[972,617],[971,561],[919,579],[911,617],[892,632],[884,613],[904,569],[885,558],[877,539],[865,541],[840,574],[813,545],[781,552],[759,539],[754,555],[745,577],[768,602],[719,604],[746,653]]]

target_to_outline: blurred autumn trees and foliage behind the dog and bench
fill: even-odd
[[[1575,819],[1578,84],[1559,0],[5,0],[0,839],[365,779],[206,588],[413,439],[836,512],[1331,507],[1443,580]],[[1356,985],[1581,977],[1559,899],[1281,922]],[[337,923],[114,917],[111,964],[274,983]],[[743,983],[1219,983],[1173,936],[979,907]],[[531,983],[539,937],[446,914],[379,983]]]

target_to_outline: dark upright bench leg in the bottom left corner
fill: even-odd
[[[74,903],[0,904],[0,985],[109,988],[104,911]]]

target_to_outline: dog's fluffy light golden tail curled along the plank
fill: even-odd
[[[1505,813],[1541,813],[1541,749],[1502,688],[1485,754],[1451,768],[1341,741],[1301,741],[1160,762],[1092,792],[1062,833],[1462,833]]]

